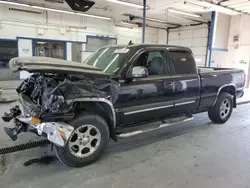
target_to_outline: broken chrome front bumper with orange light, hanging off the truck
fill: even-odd
[[[35,117],[23,116],[18,106],[12,108],[10,113],[5,113],[2,119],[5,122],[14,119],[14,128],[4,128],[7,135],[13,141],[17,139],[17,135],[21,132],[30,131],[40,136],[45,136],[55,145],[63,147],[74,131],[74,127],[65,122],[41,122]]]

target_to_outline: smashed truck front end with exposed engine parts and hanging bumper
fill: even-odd
[[[34,132],[46,136],[48,140],[64,146],[74,128],[65,122],[74,117],[70,106],[64,105],[64,95],[60,93],[55,75],[33,74],[18,88],[19,106],[10,109],[2,119],[9,122],[13,119],[14,128],[6,128],[5,132],[12,140],[21,132]]]

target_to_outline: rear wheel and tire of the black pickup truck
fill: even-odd
[[[233,96],[221,92],[215,105],[208,110],[208,117],[214,123],[225,123],[233,111]]]

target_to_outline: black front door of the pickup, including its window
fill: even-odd
[[[165,49],[160,48],[146,48],[133,58],[129,70],[144,66],[149,75],[121,81],[120,96],[115,104],[123,116],[121,125],[150,121],[171,114],[174,96],[169,62]]]

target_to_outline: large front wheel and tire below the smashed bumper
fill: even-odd
[[[69,124],[75,130],[64,147],[55,146],[58,159],[71,167],[83,167],[97,161],[109,143],[107,122],[99,115],[84,112]]]

